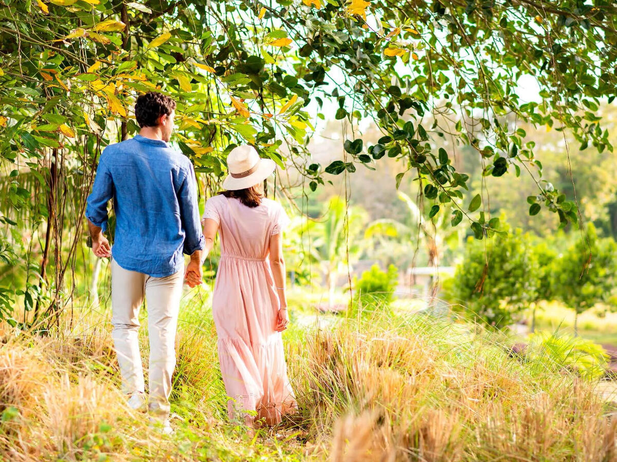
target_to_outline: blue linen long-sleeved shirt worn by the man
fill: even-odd
[[[112,256],[124,269],[169,276],[183,269],[183,253],[204,248],[193,164],[165,141],[137,135],[105,148],[86,206],[103,230],[112,198]]]

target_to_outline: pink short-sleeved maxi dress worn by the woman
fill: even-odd
[[[289,219],[273,200],[264,198],[251,208],[223,195],[206,201],[204,218],[219,225],[221,259],[212,314],[230,419],[257,411],[257,419],[280,423],[297,404],[281,333],[275,331],[279,300],[268,253],[270,237],[282,232]]]

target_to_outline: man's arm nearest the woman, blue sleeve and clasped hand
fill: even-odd
[[[186,274],[194,272],[199,277],[201,283],[203,270],[201,267],[201,254],[204,249],[204,235],[201,231],[199,222],[199,205],[197,205],[197,182],[193,164],[189,162],[188,172],[180,190],[178,191],[178,202],[180,203],[180,217],[184,227],[184,248],[185,254],[191,256],[191,261],[186,266]],[[191,287],[194,287],[189,282]]]

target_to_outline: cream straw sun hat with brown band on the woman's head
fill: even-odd
[[[267,179],[276,168],[271,159],[262,159],[254,147],[242,145],[235,147],[227,156],[230,174],[223,181],[223,188],[230,191],[250,188]]]

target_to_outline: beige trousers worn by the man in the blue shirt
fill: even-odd
[[[166,418],[176,365],[175,336],[184,274],[155,278],[123,269],[112,260],[112,337],[127,394],[144,392],[144,373],[139,354],[139,308],[147,301],[150,362],[149,410]]]

